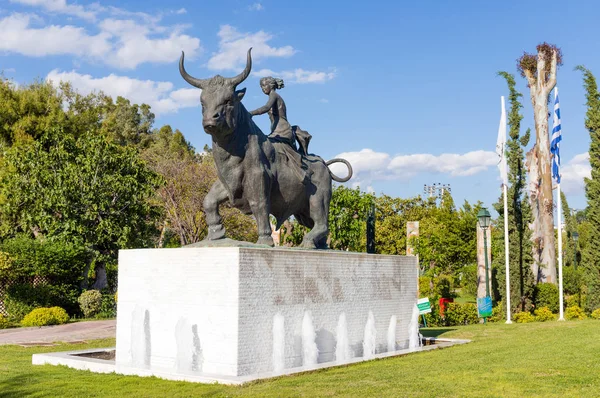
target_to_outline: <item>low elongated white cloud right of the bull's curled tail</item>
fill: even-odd
[[[496,165],[497,156],[491,151],[472,151],[465,154],[414,154],[391,156],[385,152],[362,149],[344,152],[336,158],[350,162],[354,171],[353,185],[368,186],[373,181],[409,180],[420,173],[448,174],[452,177],[471,176]],[[345,166],[335,164],[331,170],[345,175]]]

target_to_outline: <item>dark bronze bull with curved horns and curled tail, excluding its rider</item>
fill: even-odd
[[[258,226],[256,243],[273,246],[269,214],[275,216],[277,228],[290,216],[311,230],[304,236],[302,247],[327,247],[328,214],[332,179],[345,182],[352,176],[352,167],[344,159],[325,162],[321,157],[302,153],[304,178],[289,166],[289,145],[267,137],[252,121],[242,104],[246,89],[236,90],[250,74],[251,50],[246,67],[238,76],[214,76],[197,79],[184,68],[184,54],[179,60],[179,72],[186,82],[202,89],[202,125],[212,137],[212,153],[218,180],[204,199],[208,224],[208,240],[225,237],[219,205],[229,199],[246,214],[254,215]],[[336,177],[328,168],[335,162],[348,167],[346,178]]]

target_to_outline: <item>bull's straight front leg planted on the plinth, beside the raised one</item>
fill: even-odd
[[[259,245],[275,246],[273,237],[271,236],[271,223],[269,222],[269,212],[271,210],[269,180],[263,173],[260,173],[256,174],[253,178],[249,178],[248,181],[252,181],[252,186],[246,188],[246,192],[252,193],[248,204],[258,227],[258,240],[256,243]]]

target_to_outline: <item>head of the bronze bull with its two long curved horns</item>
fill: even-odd
[[[240,101],[246,89],[236,91],[238,84],[246,80],[252,69],[252,48],[248,50],[246,67],[235,77],[216,75],[209,79],[196,79],[190,76],[183,66],[184,53],[179,59],[179,73],[183,79],[194,87],[202,89],[200,103],[202,105],[202,126],[206,133],[214,137],[231,134],[236,128],[237,113]]]

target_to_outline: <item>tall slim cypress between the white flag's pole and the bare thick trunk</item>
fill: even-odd
[[[515,89],[515,78],[507,72],[499,72],[508,84],[510,112],[508,114],[509,137],[506,142],[506,160],[508,163],[507,204],[508,204],[508,241],[510,268],[510,303],[511,310],[525,311],[531,307],[534,294],[534,278],[531,270],[533,263],[531,230],[532,213],[526,192],[526,169],[524,147],[529,143],[531,131],[527,129],[521,136],[521,120],[523,107],[519,98],[523,95]],[[500,195],[494,208],[500,214],[498,229],[504,231],[504,198]],[[504,259],[504,233],[498,234],[500,241],[498,256],[494,265],[498,270],[497,280],[499,293],[506,292],[506,266]]]

